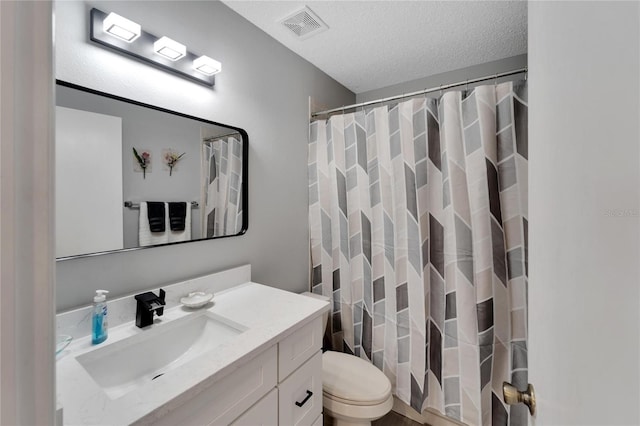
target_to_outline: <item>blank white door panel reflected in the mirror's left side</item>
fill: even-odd
[[[122,119],[56,107],[56,257],[124,248]]]

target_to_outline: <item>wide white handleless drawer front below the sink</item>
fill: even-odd
[[[227,425],[277,385],[276,366],[277,351],[272,346],[153,424]]]

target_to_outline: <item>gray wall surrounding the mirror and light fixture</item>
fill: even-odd
[[[91,7],[219,60],[215,88],[90,43]],[[245,263],[257,282],[305,290],[308,97],[338,106],[355,102],[355,95],[219,2],[57,1],[55,19],[56,78],[249,134],[245,235],[57,262],[58,311],[91,303],[97,288],[111,297],[134,294]]]

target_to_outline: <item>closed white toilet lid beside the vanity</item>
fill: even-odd
[[[329,397],[358,405],[384,402],[391,382],[373,364],[353,355],[327,351],[322,354],[322,390]]]

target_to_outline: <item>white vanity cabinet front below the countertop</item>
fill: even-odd
[[[153,424],[322,424],[322,330],[315,318]]]

